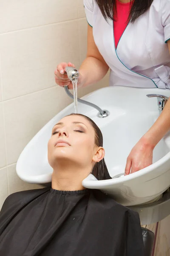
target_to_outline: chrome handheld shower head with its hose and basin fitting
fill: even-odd
[[[77,69],[75,69],[74,67],[65,67],[68,79],[70,79],[71,81],[78,81],[79,79],[79,71]],[[71,98],[74,99],[74,96],[71,94],[71,92],[68,89],[68,86],[65,86],[65,92],[67,93],[67,95]],[[83,99],[77,99],[78,102],[83,103],[85,105],[91,106],[92,108],[96,108],[96,110],[98,110],[98,114],[97,116],[100,118],[104,118],[109,116],[109,111],[107,110],[102,110],[101,108],[99,108],[98,106],[94,105],[91,102],[87,102]]]

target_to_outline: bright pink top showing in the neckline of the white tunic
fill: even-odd
[[[114,28],[115,47],[117,48],[119,40],[127,27],[127,19],[129,17],[129,12],[130,12],[130,2],[121,3],[119,2],[119,0],[116,0],[116,8],[117,8],[117,15],[115,14],[115,17],[114,17],[116,21],[113,22],[113,28]]]

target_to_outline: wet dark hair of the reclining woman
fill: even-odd
[[[89,118],[88,116],[85,116],[85,115],[82,115],[82,114],[71,113],[68,116],[74,116],[74,115],[83,116],[86,119],[88,119],[88,121],[91,123],[91,125],[93,126],[94,131],[95,131],[94,143],[98,147],[102,147],[103,146],[103,135],[102,135],[102,132],[100,131],[99,127],[95,124],[95,122],[91,118]],[[100,162],[95,163],[91,173],[94,175],[94,177],[96,177],[97,180],[111,179],[111,177],[108,173],[108,168],[106,166],[104,158]]]

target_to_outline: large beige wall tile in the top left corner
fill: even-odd
[[[0,33],[77,18],[76,0],[0,1]]]

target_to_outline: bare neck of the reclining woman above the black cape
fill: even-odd
[[[52,174],[52,189],[62,191],[76,191],[85,189],[82,186],[84,180],[91,173],[91,168],[83,169],[77,166],[56,166]]]

